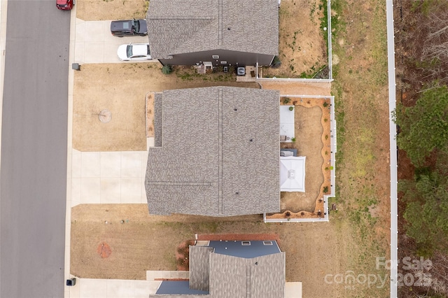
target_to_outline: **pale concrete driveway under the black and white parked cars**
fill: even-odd
[[[84,21],[76,19],[74,55],[76,63],[129,63],[120,61],[117,56],[118,46],[125,43],[148,43],[148,36],[120,38],[111,34],[111,20]],[[158,62],[158,60],[141,62]]]

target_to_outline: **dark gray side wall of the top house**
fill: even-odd
[[[218,55],[218,59],[213,59]],[[270,65],[273,55],[262,55],[251,52],[237,52],[230,50],[210,50],[204,52],[190,52],[187,54],[173,55],[172,59],[159,59],[163,65],[197,65],[211,62],[213,66],[246,66],[246,65]],[[224,63],[225,62],[225,63]]]

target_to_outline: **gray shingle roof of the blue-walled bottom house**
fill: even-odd
[[[285,253],[278,249],[276,241],[272,246],[275,253],[265,246],[263,241],[251,241],[246,250],[265,251],[265,255],[257,257],[235,257],[218,253],[216,245],[228,246],[235,252],[232,245],[241,246],[241,241],[211,241],[210,246],[190,246],[190,289],[206,290],[209,295],[202,297],[263,297],[283,298],[285,295]],[[260,244],[256,246],[255,244]],[[254,244],[255,246],[253,246]],[[213,246],[213,247],[212,247]],[[215,249],[214,249],[215,248]],[[150,297],[161,297],[150,295]],[[168,295],[169,298],[190,297],[187,295]]]

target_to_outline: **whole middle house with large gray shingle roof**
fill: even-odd
[[[202,87],[155,93],[151,214],[280,211],[279,92]]]

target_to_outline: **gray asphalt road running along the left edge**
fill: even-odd
[[[70,13],[8,1],[0,297],[64,297]]]

